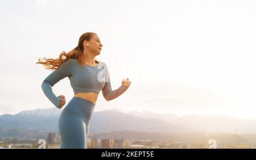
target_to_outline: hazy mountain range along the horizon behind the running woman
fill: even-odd
[[[0,137],[46,137],[48,132],[59,132],[58,120],[62,109],[26,110],[15,115],[0,115]],[[177,134],[221,132],[255,134],[256,120],[237,119],[219,115],[156,114],[148,111],[123,113],[117,109],[94,111],[89,136],[115,137],[147,134]],[[150,135],[148,135],[150,136]]]

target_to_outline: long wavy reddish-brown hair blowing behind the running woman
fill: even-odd
[[[85,59],[83,54],[84,41],[85,40],[89,41],[92,38],[93,34],[96,34],[96,33],[93,33],[93,32],[83,33],[79,38],[79,44],[73,50],[69,51],[68,53],[66,53],[65,51],[62,51],[59,55],[59,58],[55,58],[55,59],[46,58],[46,57],[38,58],[38,62],[36,62],[36,64],[38,63],[43,64],[43,66],[45,66],[47,70],[56,70],[57,68],[59,68],[61,64],[73,58],[73,59],[77,59],[79,64],[82,66],[83,64],[85,64]],[[97,63],[99,63],[97,59],[95,60]]]

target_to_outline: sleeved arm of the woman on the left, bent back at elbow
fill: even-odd
[[[46,79],[43,80],[41,88],[46,95],[46,97],[55,105],[58,109],[61,108],[60,101],[62,98],[60,96],[56,97],[56,95],[52,91],[53,85],[59,82],[61,79],[64,79],[67,76],[72,75],[72,60],[69,64],[69,60],[60,65],[58,69],[50,73]]]

